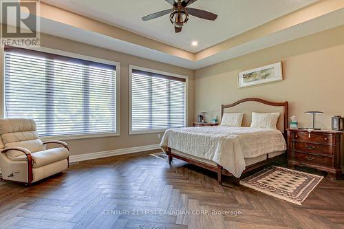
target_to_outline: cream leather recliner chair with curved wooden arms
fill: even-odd
[[[46,149],[47,144],[62,147]],[[65,171],[69,166],[69,149],[61,141],[39,140],[32,119],[0,119],[0,169],[2,179],[32,184]]]

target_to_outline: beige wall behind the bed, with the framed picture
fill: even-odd
[[[277,61],[283,61],[283,81],[239,89],[240,71]],[[299,127],[311,124],[305,111],[323,111],[317,124],[330,129],[332,116],[344,116],[344,26],[195,71],[195,116],[219,116],[220,105],[248,97],[289,101]]]

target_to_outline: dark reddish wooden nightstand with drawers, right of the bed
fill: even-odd
[[[288,166],[308,166],[341,179],[344,165],[343,132],[288,130]]]

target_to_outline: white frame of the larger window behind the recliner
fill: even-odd
[[[52,136],[42,136],[40,137],[41,140],[78,140],[78,139],[86,139],[86,138],[104,138],[104,137],[112,137],[112,136],[119,136],[120,135],[120,63],[116,61],[109,61],[103,58],[96,58],[93,56],[85,56],[82,54],[75,54],[72,52],[65,52],[61,50],[54,50],[48,47],[38,47],[38,48],[31,48],[25,47],[26,50],[33,50],[39,52],[46,52],[49,54],[56,54],[61,56],[67,56],[70,58],[78,58],[85,61],[92,61],[97,63],[103,63],[107,65],[114,65],[116,67],[116,132],[104,132],[104,133],[80,133],[80,134],[72,134],[72,135],[52,135]],[[1,71],[1,100],[0,100],[0,116],[1,118],[5,118],[5,49],[1,47],[1,58],[3,61],[0,63],[0,67],[2,67],[3,71]]]

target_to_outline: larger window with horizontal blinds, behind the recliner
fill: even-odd
[[[5,117],[40,136],[116,134],[116,66],[6,47]]]

